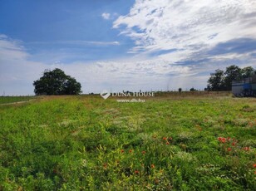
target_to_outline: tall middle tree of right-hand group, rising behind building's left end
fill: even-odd
[[[226,71],[224,72],[225,74],[225,86],[227,91],[232,90],[232,81],[234,80],[241,80],[242,75],[241,75],[241,68],[239,66],[229,66],[226,68]]]

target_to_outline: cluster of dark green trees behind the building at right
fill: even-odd
[[[245,78],[253,76],[256,71],[252,66],[240,68],[239,66],[228,66],[226,70],[217,69],[209,76],[208,91],[231,91],[232,81],[242,81]]]

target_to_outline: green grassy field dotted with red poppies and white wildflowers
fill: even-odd
[[[256,190],[256,99],[0,105],[0,190]]]

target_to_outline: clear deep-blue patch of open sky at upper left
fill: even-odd
[[[104,12],[115,14],[116,6],[118,14],[126,14],[131,1],[1,2],[0,33],[21,40],[33,60],[53,61],[65,54],[65,63],[96,61],[125,55],[132,47],[129,38],[119,36],[111,21],[102,18]],[[113,46],[108,46],[111,42]],[[115,46],[115,42],[125,46]]]

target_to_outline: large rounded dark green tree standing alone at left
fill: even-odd
[[[66,76],[59,68],[45,70],[43,76],[33,82],[36,95],[77,95],[81,93],[81,84],[71,76]]]

